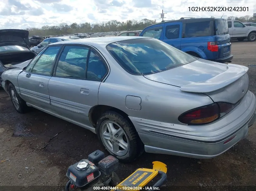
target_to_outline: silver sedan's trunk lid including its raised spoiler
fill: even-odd
[[[204,93],[214,102],[238,102],[248,91],[248,68],[198,59],[164,72],[144,75],[152,81],[180,87],[181,91]]]

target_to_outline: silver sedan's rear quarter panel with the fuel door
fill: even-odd
[[[131,75],[109,53],[105,58],[110,74],[100,85],[99,105],[115,107],[128,116],[178,124],[180,114],[213,103],[207,95],[182,92],[178,87]],[[131,101],[132,109],[128,108]]]

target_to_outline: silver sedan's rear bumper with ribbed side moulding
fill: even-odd
[[[134,117],[130,119],[145,145],[146,152],[209,159],[224,153],[247,136],[248,127],[256,119],[255,100],[254,94],[248,91],[232,114],[227,114],[227,117],[212,124],[214,129],[205,125],[197,127],[197,132],[192,131],[192,126],[184,127],[183,129],[190,127],[190,130],[184,132],[181,131],[182,127],[176,124],[155,123]],[[203,129],[207,131],[203,132]]]

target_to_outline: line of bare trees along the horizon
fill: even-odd
[[[211,17],[214,18],[214,17]],[[244,21],[256,21],[256,18],[251,16],[243,17],[228,17],[227,20]],[[86,23],[60,23],[55,26],[45,25],[41,28],[27,28],[29,36],[48,36],[48,35],[63,35],[74,33],[96,33],[96,32],[110,32],[110,31],[123,31],[123,30],[143,30],[145,27],[156,24],[156,20],[142,19],[142,20],[128,20],[120,22],[117,20],[111,20],[108,22],[98,22],[91,24]]]

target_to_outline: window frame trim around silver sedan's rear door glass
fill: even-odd
[[[54,46],[54,45],[52,45]],[[56,45],[55,45],[56,46]],[[86,47],[86,48],[89,48],[88,50],[88,56],[87,56],[87,59],[86,59],[86,69],[85,69],[85,79],[81,79],[81,78],[73,78],[73,77],[65,77],[65,76],[56,76],[56,69],[57,69],[57,66],[58,66],[58,62],[59,62],[59,59],[61,57],[61,54],[64,50],[64,48],[66,46],[82,46],[82,47]],[[52,76],[53,77],[56,77],[56,78],[68,78],[68,79],[77,79],[77,80],[86,80],[86,81],[98,81],[98,80],[91,80],[91,79],[87,79],[87,68],[88,68],[88,61],[89,61],[89,57],[90,57],[90,53],[91,53],[91,49],[92,50],[95,50],[96,53],[98,53],[98,55],[101,57],[102,61],[103,61],[103,64],[105,64],[106,68],[107,68],[107,72],[106,74],[103,76],[101,82],[104,82],[106,80],[106,78],[108,77],[109,73],[110,73],[110,67],[108,65],[108,62],[107,60],[105,59],[105,57],[100,53],[100,51],[98,49],[96,49],[94,46],[89,46],[89,45],[84,45],[84,44],[63,44],[62,48],[60,49],[59,51],[59,54],[58,54],[58,57],[55,61],[55,65],[54,65],[54,68],[53,68],[53,72],[52,72]]]

